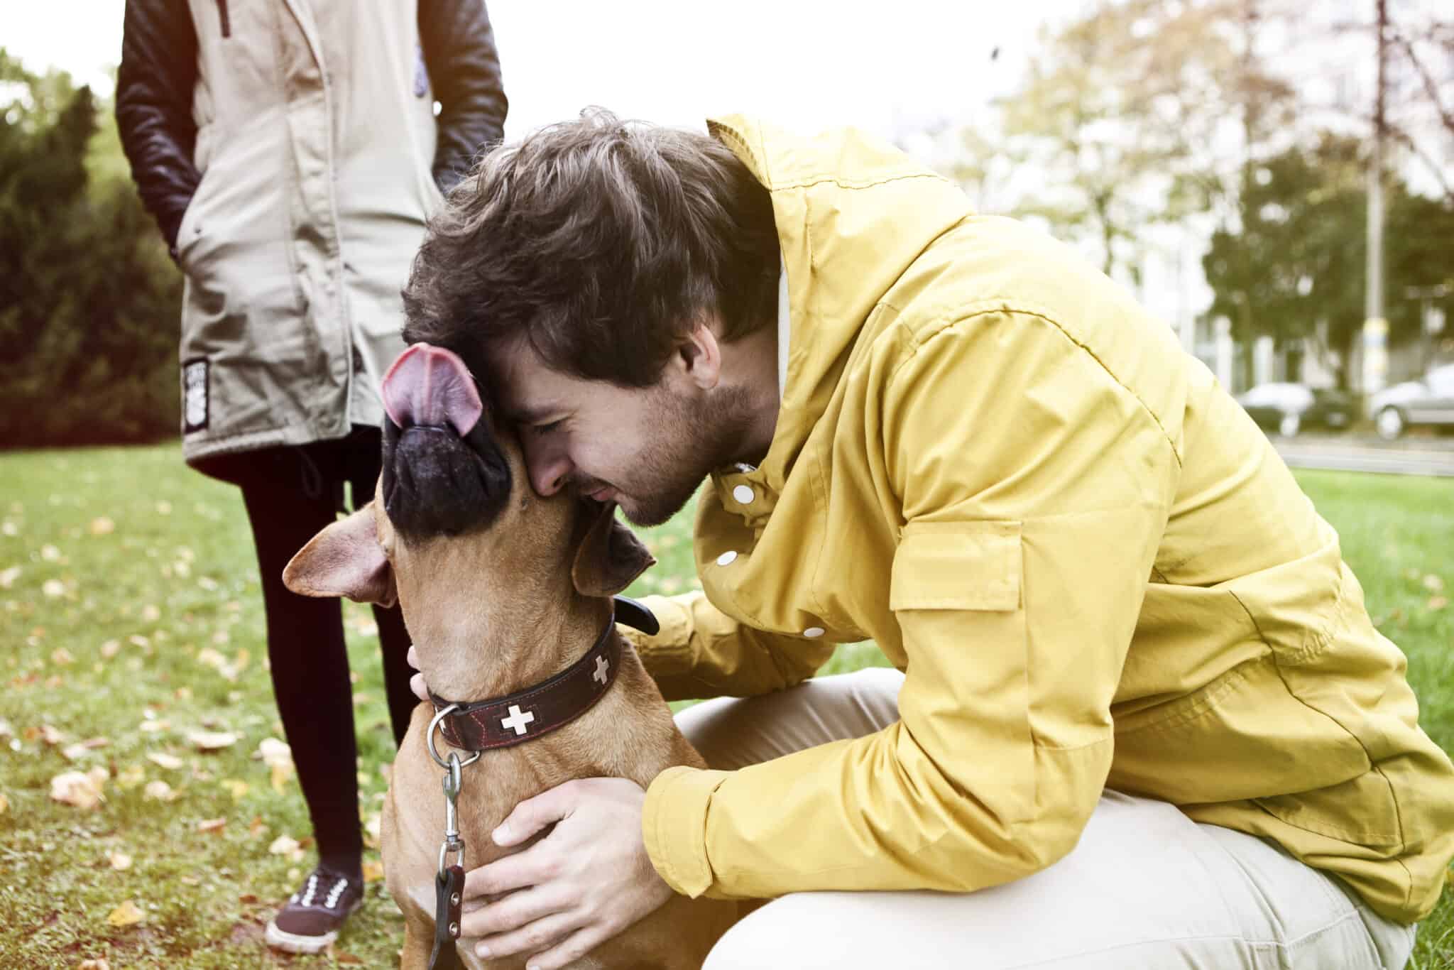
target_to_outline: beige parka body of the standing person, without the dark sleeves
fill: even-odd
[[[176,243],[186,458],[377,426],[375,388],[404,349],[400,288],[441,201],[416,6],[189,6],[202,179]]]

